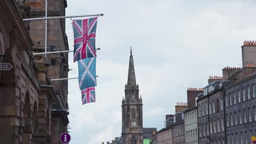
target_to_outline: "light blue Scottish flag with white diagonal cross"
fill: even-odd
[[[96,57],[81,59],[78,61],[79,87],[85,89],[94,87],[96,83]]]

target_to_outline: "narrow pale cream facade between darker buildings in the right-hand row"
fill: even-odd
[[[184,111],[185,143],[198,143],[197,135],[197,107],[190,107]]]

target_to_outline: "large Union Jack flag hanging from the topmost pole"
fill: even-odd
[[[88,57],[96,57],[95,36],[97,18],[73,20],[74,62]]]

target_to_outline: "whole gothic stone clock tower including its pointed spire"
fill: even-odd
[[[132,50],[129,62],[125,98],[122,101],[123,144],[143,144],[142,99],[136,84]]]

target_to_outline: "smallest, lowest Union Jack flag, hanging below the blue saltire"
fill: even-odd
[[[94,103],[95,102],[95,87],[88,87],[81,91],[82,93],[82,103]]]

